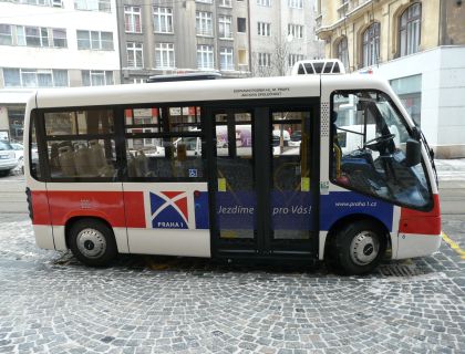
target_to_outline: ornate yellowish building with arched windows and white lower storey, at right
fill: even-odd
[[[317,1],[327,58],[391,82],[437,157],[465,157],[465,3]]]

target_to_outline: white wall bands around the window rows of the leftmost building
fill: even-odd
[[[116,7],[112,12],[74,10],[73,0],[63,8],[0,2],[0,23],[66,29],[68,48],[1,45],[0,67],[118,70]],[[113,32],[113,51],[78,50],[76,30]]]

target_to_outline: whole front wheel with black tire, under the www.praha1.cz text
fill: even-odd
[[[375,222],[351,222],[338,230],[333,257],[342,273],[366,274],[383,259],[386,244],[386,236]]]

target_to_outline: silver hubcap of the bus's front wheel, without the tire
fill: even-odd
[[[380,241],[376,233],[362,231],[350,243],[350,257],[358,266],[366,266],[380,253]]]

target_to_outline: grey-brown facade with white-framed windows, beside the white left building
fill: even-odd
[[[219,71],[249,75],[248,0],[117,0],[122,82]]]

